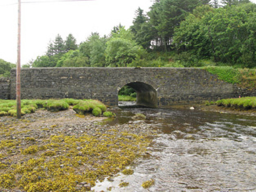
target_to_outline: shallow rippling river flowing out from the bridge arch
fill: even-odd
[[[189,107],[187,107],[189,108]],[[134,114],[147,119],[136,121]],[[109,124],[150,124],[159,132],[146,155],[95,191],[256,191],[256,118],[186,108],[126,108]],[[153,179],[153,187],[142,183]],[[123,181],[127,187],[119,187]]]

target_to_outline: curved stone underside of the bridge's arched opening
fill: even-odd
[[[157,91],[151,85],[140,82],[140,81],[134,81],[134,82],[127,83],[124,85],[128,85],[129,87],[132,87],[136,91],[136,93],[137,93],[136,104],[137,105],[143,105],[146,107],[153,107],[153,108],[158,107]],[[117,92],[119,90],[120,90],[120,87],[118,88]]]

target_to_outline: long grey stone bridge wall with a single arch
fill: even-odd
[[[81,67],[21,70],[22,99],[95,99],[106,105],[117,106],[117,94],[124,85],[136,90],[137,104],[147,107],[215,101],[234,97],[237,92],[235,85],[218,80],[217,76],[199,68]],[[9,98],[15,99],[15,69],[11,70],[8,88]]]

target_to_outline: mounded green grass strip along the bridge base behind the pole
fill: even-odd
[[[95,116],[100,116],[107,110],[106,105],[97,100],[22,100],[21,114],[31,114],[35,112],[36,109],[41,108],[50,112],[58,112],[66,110],[70,106],[73,106],[73,109],[80,115],[84,115],[89,112]],[[0,100],[0,116],[17,116],[16,101]]]

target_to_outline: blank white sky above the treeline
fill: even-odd
[[[21,0],[21,2],[50,0]],[[255,0],[256,1],[256,0]],[[0,59],[16,63],[18,36],[18,0],[0,0]],[[10,5],[11,4],[11,5]],[[14,4],[14,5],[12,5]],[[95,0],[22,4],[21,64],[46,53],[50,40],[58,33],[65,40],[69,33],[77,43],[92,32],[109,35],[114,26],[132,25],[135,11],[145,12],[151,0]]]

